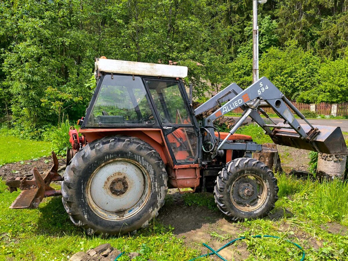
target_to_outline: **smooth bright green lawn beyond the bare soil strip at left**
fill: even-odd
[[[0,135],[0,141],[0,165],[47,156],[51,152],[51,144],[45,141],[20,140],[3,135]]]

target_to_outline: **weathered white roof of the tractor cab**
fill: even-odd
[[[186,66],[166,65],[157,63],[140,63],[97,58],[95,69],[100,72],[135,74],[145,76],[161,76],[184,78],[187,76]]]

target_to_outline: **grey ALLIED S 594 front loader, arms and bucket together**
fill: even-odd
[[[339,127],[311,125],[306,117],[266,77],[262,77],[245,90],[242,90],[236,84],[231,84],[199,106],[195,111],[196,115],[209,109],[210,106],[212,106],[210,108],[213,108],[223,102],[226,103],[205,119],[205,125],[212,125],[214,120],[239,107],[244,110],[244,113],[231,128],[229,135],[223,141],[220,141],[217,149],[228,149],[229,144],[226,144],[226,141],[229,136],[234,134],[245,119],[250,116],[276,144],[330,154],[348,153]],[[280,118],[284,119],[284,123],[275,124],[267,113],[259,108],[260,104],[262,106],[267,104]],[[289,108],[306,124],[299,124]],[[273,124],[266,124],[260,117],[259,111],[269,118]]]

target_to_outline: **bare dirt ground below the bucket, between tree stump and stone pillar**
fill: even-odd
[[[308,169],[308,150],[301,150],[287,146],[277,145],[282,168],[289,173],[293,168],[307,171]]]

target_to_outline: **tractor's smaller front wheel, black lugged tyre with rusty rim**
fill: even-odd
[[[232,220],[265,217],[278,199],[277,179],[259,160],[238,158],[219,172],[214,188],[217,207]]]

